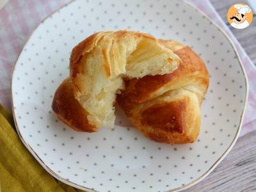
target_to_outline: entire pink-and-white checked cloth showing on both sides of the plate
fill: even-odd
[[[10,76],[12,67],[28,36],[42,19],[61,5],[68,3],[68,1],[10,0],[0,10],[0,102],[6,108],[11,109]],[[220,15],[214,10],[209,0],[189,1],[209,15],[211,19],[227,32],[236,45],[246,70],[250,87],[241,135],[256,130],[256,125],[253,125],[256,123],[256,116],[252,115],[256,111],[256,81],[253,81],[253,77],[256,77],[255,66]]]

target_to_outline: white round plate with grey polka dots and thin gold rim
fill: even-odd
[[[52,112],[68,76],[72,47],[96,31],[131,29],[191,46],[211,74],[195,143],[150,141],[117,110],[115,131],[72,131]],[[73,1],[44,20],[20,53],[12,77],[19,136],[44,168],[79,189],[168,191],[202,180],[237,140],[246,75],[223,31],[184,1]]]

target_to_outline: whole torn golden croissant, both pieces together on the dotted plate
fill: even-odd
[[[204,62],[189,47],[134,31],[106,31],[72,50],[70,77],[52,109],[76,131],[115,124],[115,102],[148,138],[195,141],[209,84]],[[117,99],[116,99],[117,95]]]

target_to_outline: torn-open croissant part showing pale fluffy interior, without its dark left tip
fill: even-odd
[[[116,93],[124,90],[124,77],[167,74],[179,63],[179,57],[153,36],[134,31],[95,33],[72,50],[74,97],[88,113],[88,124],[113,128]]]

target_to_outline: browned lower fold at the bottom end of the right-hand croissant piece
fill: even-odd
[[[159,98],[131,110],[129,119],[151,140],[161,143],[193,143],[200,127],[200,108],[195,94],[173,91],[175,99]],[[179,92],[184,92],[179,95]],[[178,96],[177,96],[178,95]],[[165,96],[166,97],[166,96]]]

